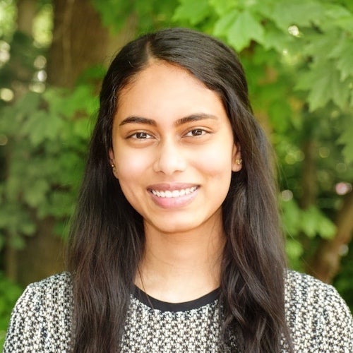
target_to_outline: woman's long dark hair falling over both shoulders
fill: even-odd
[[[151,60],[189,71],[217,92],[241,148],[222,205],[227,243],[220,306],[222,344],[237,340],[241,352],[279,352],[290,341],[285,321],[285,256],[273,161],[254,119],[243,68],[225,44],[180,28],[143,35],[126,44],[102,83],[100,112],[69,241],[73,275],[74,352],[117,352],[143,246],[143,220],[126,201],[109,165],[119,92]]]

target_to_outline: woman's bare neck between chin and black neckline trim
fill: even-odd
[[[166,234],[146,226],[136,285],[168,302],[197,299],[219,287],[225,234],[215,229],[220,227]]]

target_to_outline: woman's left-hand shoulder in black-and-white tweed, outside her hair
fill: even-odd
[[[11,314],[4,352],[62,352],[71,336],[72,285],[60,273],[28,285]]]

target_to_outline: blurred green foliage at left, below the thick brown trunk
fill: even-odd
[[[1,244],[6,239],[22,248],[22,237],[35,234],[35,218],[70,217],[97,104],[90,85],[83,84],[72,92],[28,92],[3,109],[0,131],[8,137],[11,159],[0,188]]]

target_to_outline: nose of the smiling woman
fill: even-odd
[[[153,170],[166,175],[183,172],[186,169],[184,153],[177,141],[163,141],[157,147]]]

